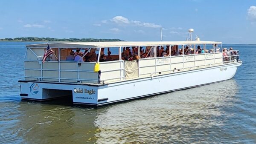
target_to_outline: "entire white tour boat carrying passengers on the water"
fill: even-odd
[[[26,48],[24,80],[19,81],[22,99],[46,101],[72,95],[74,104],[92,107],[228,80],[242,64],[239,51],[199,38],[45,43]]]

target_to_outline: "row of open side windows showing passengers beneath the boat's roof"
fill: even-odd
[[[156,49],[156,50],[154,50]],[[58,48],[52,48],[55,55],[58,55]],[[122,47],[122,60],[138,60],[140,58],[168,57],[178,55],[195,55],[203,53],[221,52],[218,45],[175,45],[175,46],[127,46]],[[99,58],[98,58],[99,57]],[[96,61],[113,61],[119,60],[119,47],[111,48],[81,48],[81,49],[60,49],[61,61],[79,61],[79,62],[96,62]],[[49,60],[57,60],[50,57]]]

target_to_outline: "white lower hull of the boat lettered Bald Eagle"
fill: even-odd
[[[212,66],[204,69],[178,71],[166,75],[121,81],[104,85],[60,84],[38,81],[20,81],[21,98],[44,101],[73,96],[74,104],[103,106],[135,98],[187,89],[233,78],[239,63]]]

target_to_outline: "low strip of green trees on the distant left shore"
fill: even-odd
[[[50,37],[16,37],[4,38],[2,41],[76,41],[76,42],[99,42],[99,41],[123,41],[119,39],[97,39],[97,38],[50,38]]]

